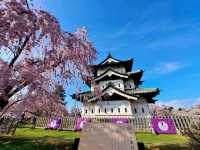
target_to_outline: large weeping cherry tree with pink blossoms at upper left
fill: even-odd
[[[44,111],[48,102],[59,104],[55,85],[90,76],[95,58],[85,28],[70,33],[26,0],[0,0],[1,115],[17,103]]]

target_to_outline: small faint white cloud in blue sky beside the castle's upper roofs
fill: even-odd
[[[156,66],[153,69],[153,72],[157,74],[166,74],[175,72],[179,69],[182,69],[183,67],[185,67],[185,65],[178,62],[167,62],[167,63],[161,63],[158,66]]]

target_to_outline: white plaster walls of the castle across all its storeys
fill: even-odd
[[[97,76],[104,73],[107,69],[108,68],[98,69]],[[126,73],[126,70],[124,67],[112,68],[112,69],[119,73]],[[129,79],[127,81],[123,81],[122,79],[100,81],[99,87],[103,90],[108,86],[109,82],[113,83],[116,88],[122,91],[124,91],[125,89],[135,88],[133,79]],[[94,91],[93,86],[91,86],[91,91]],[[111,91],[109,90],[107,92],[111,94],[112,90]],[[100,116],[147,117],[147,116],[150,116],[150,109],[149,109],[146,99],[144,98],[140,98],[137,101],[133,101],[133,100],[97,101],[94,103],[85,104],[82,109],[82,116],[84,117],[93,117],[93,116],[95,117],[97,116],[99,117]]]

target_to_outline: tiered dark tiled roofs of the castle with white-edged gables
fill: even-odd
[[[96,96],[93,91],[87,91],[74,94],[72,95],[72,98],[82,102],[94,102],[98,99],[101,99],[100,97],[102,97],[105,101],[119,99],[137,101],[140,98],[145,98],[148,103],[154,103],[155,100],[153,100],[153,98],[160,93],[160,89],[139,88],[139,85],[143,82],[141,79],[144,71],[137,70],[131,72],[132,66],[133,59],[121,61],[113,58],[111,54],[109,54],[107,58],[99,64],[90,66],[93,71],[93,76],[91,78],[84,79],[85,83],[90,87],[93,87],[95,84],[101,85],[102,83],[101,87],[106,87],[101,91],[102,95]],[[108,85],[109,83],[112,83],[112,81],[115,83],[115,85],[117,82],[122,81],[124,84],[123,89],[121,83],[118,85],[118,87],[115,87],[114,84]],[[133,86],[131,84],[133,84]]]

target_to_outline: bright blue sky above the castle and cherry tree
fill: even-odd
[[[143,87],[162,90],[160,104],[200,102],[200,1],[42,0],[41,5],[67,31],[86,26],[99,52],[96,62],[108,52],[134,58],[133,69],[145,70]],[[73,92],[71,86],[67,93]]]

